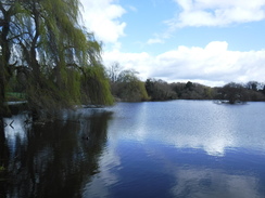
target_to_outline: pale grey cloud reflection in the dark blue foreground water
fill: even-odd
[[[258,180],[252,175],[234,175],[223,170],[189,168],[175,173],[175,197],[263,197],[257,194]]]

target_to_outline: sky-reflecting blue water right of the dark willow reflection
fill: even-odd
[[[87,184],[85,197],[264,197],[260,105],[115,106],[102,155],[109,163]]]

